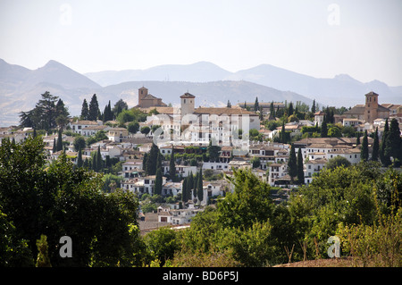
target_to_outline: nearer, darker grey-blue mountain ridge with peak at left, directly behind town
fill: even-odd
[[[193,66],[198,69],[192,75],[189,73],[189,76],[193,76],[193,78],[199,77],[211,68],[222,71],[210,63],[197,63]],[[186,65],[182,65],[180,69],[185,67]],[[15,74],[9,72],[10,70],[15,71]],[[69,107],[71,115],[79,115],[83,99],[90,100],[93,94],[96,94],[101,110],[109,100],[115,103],[119,99],[123,99],[130,107],[137,105],[138,88],[142,86],[146,86],[151,94],[162,97],[165,103],[172,103],[172,105],[179,104],[180,95],[187,90],[197,96],[197,105],[222,106],[226,105],[228,100],[232,105],[236,105],[244,102],[246,98],[254,101],[255,96],[258,96],[260,102],[288,100],[302,101],[311,105],[313,101],[297,93],[282,92],[245,80],[219,80],[202,83],[180,80],[138,80],[101,87],[93,80],[89,80],[79,72],[56,61],[49,61],[43,67],[33,71],[20,68],[18,65],[0,62],[0,71],[0,125],[2,126],[18,124],[18,114],[21,111],[32,109],[45,91],[61,97],[64,104]],[[20,74],[19,71],[21,71]],[[151,69],[151,71],[154,72],[155,69]],[[159,73],[159,75],[161,74]],[[210,79],[214,80],[213,77]]]

